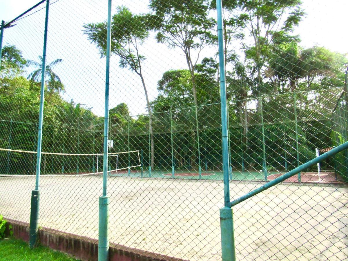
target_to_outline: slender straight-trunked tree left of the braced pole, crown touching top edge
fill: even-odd
[[[195,103],[195,118],[197,143],[199,144],[198,99],[195,66],[201,51],[212,42],[216,36],[212,33],[215,20],[209,18],[209,2],[206,0],[151,0],[153,11],[152,26],[158,32],[158,42],[166,43],[169,47],[182,50],[191,75],[192,94]],[[197,58],[193,57],[194,51]],[[198,159],[200,151],[198,146]]]

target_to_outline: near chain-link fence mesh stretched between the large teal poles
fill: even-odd
[[[215,1],[110,10],[110,45],[106,0],[45,0],[3,25],[0,214],[29,222],[39,184],[39,226],[97,239],[107,189],[111,243],[221,260],[227,183],[236,199],[347,142],[347,57],[302,47],[295,0],[222,1],[222,64]],[[236,259],[347,259],[347,153],[234,206]]]

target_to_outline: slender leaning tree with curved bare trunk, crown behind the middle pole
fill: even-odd
[[[119,65],[121,68],[128,68],[135,72],[141,79],[148,115],[149,115],[149,131],[151,140],[151,167],[154,167],[155,160],[155,143],[153,137],[153,119],[151,114],[151,106],[143,77],[142,63],[145,56],[140,54],[139,46],[149,36],[148,16],[134,15],[126,7],[118,7],[117,14],[112,17],[111,30],[111,52],[119,56]],[[106,23],[90,23],[84,25],[85,34],[88,39],[96,43],[100,48],[101,54],[106,52]]]

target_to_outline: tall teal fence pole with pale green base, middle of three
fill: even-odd
[[[99,198],[99,235],[98,260],[109,260],[109,197],[108,185],[108,139],[109,139],[109,78],[111,56],[111,1],[108,2],[108,31],[106,37],[106,72],[105,72],[105,112],[104,112],[104,149],[103,149],[103,196]]]

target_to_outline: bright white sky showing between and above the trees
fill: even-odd
[[[0,20],[9,21],[37,2],[38,0],[0,0]],[[68,2],[70,2],[70,8],[66,8]],[[66,100],[73,98],[75,102],[81,102],[86,108],[92,108],[94,113],[102,116],[104,114],[105,59],[100,58],[95,45],[91,45],[86,35],[82,34],[82,25],[87,22],[103,21],[106,18],[107,0],[96,0],[91,5],[89,2],[91,1],[60,0],[51,5],[52,20],[49,23],[47,62],[50,63],[57,58],[63,59],[61,64],[54,67],[54,71],[66,86],[66,92],[63,95]],[[128,3],[127,5],[132,5],[130,6],[132,11],[146,12],[147,1]],[[125,2],[113,0],[113,7],[121,4]],[[345,33],[348,1],[303,0],[302,7],[307,15],[295,30],[295,33],[301,36],[301,45],[311,47],[317,44],[332,51],[348,53],[348,34]],[[37,56],[42,55],[42,44],[39,43],[43,38],[41,30],[43,12],[44,10],[41,10],[25,18],[29,25],[24,25],[22,20],[13,29],[5,30],[4,44],[15,44],[22,50],[25,58],[37,60]],[[33,24],[37,26],[32,26]],[[37,31],[31,31],[32,27],[35,27]],[[53,34],[53,31],[56,33]],[[16,38],[18,35],[21,35],[19,40]],[[144,69],[144,76],[150,100],[152,100],[158,94],[156,84],[163,72],[170,69],[186,69],[187,65],[180,51],[156,45],[152,35],[150,38],[152,39],[148,40],[141,49],[147,57],[145,65],[151,65],[146,68],[147,70]],[[211,53],[212,50],[207,52]],[[111,69],[110,108],[119,102],[126,101],[131,113],[145,113],[144,90],[139,77],[128,69],[120,69],[116,56],[111,59]]]

